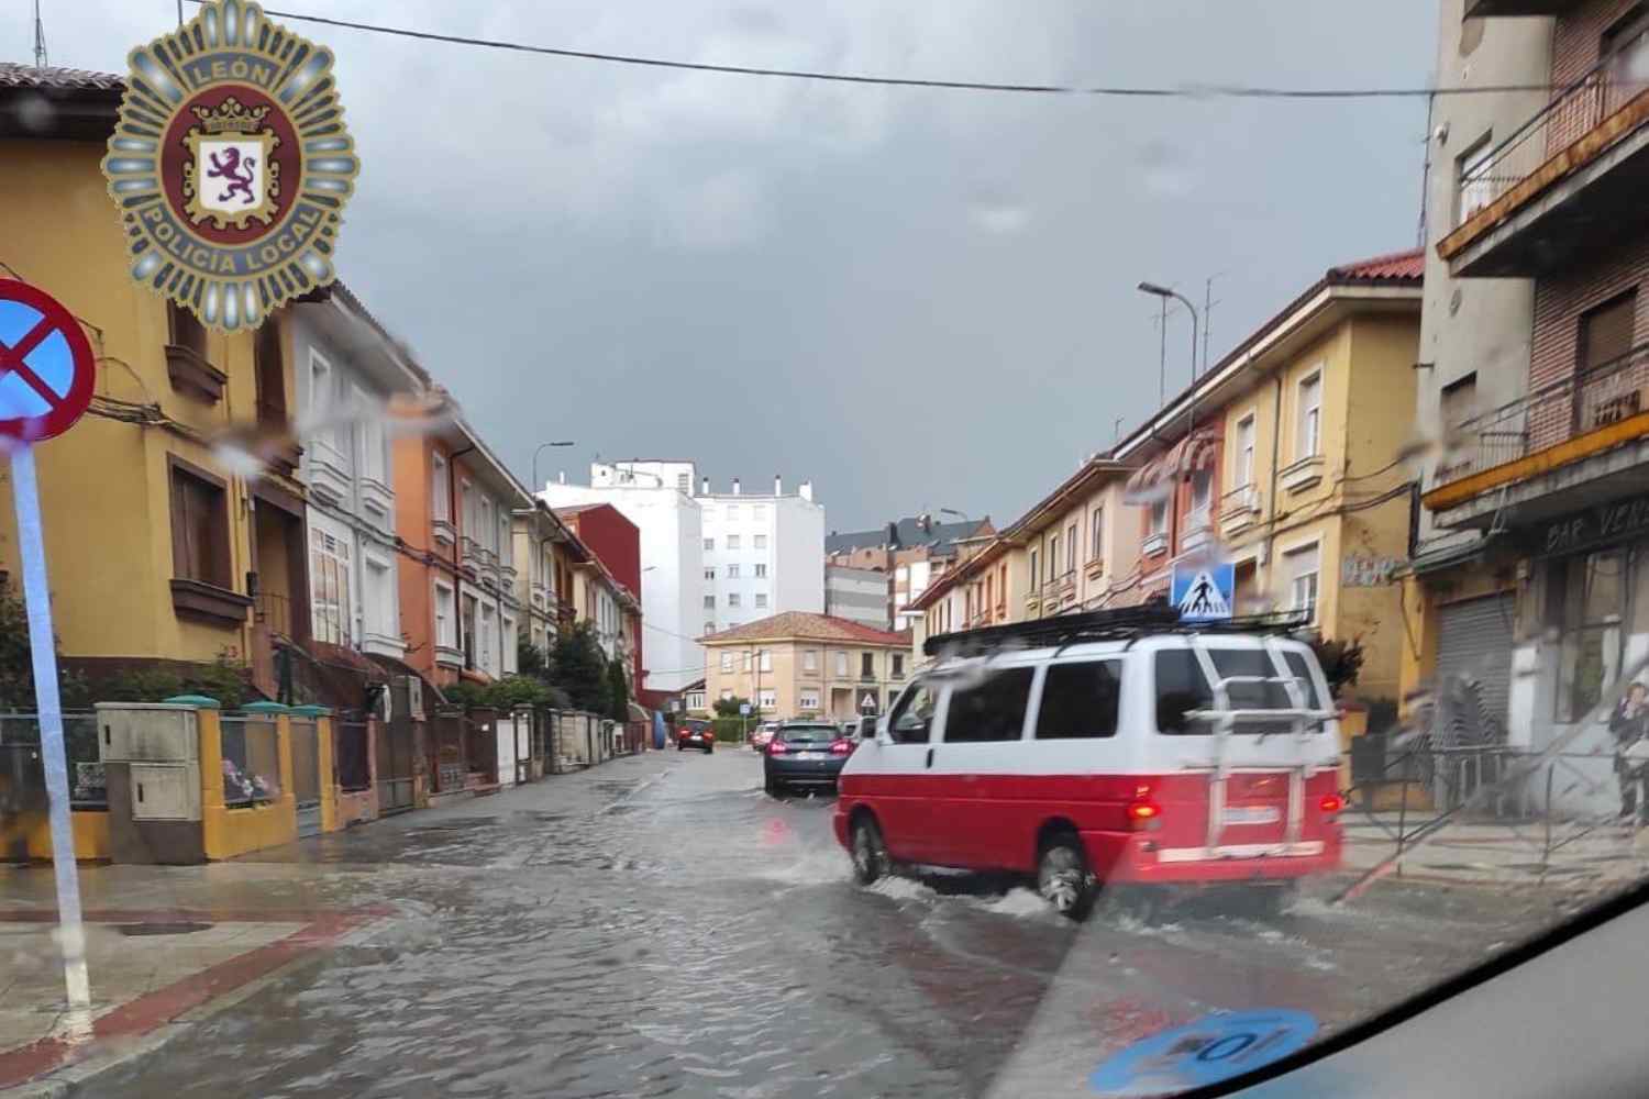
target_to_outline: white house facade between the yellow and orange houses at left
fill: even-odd
[[[303,438],[310,631],[315,641],[402,659],[396,498],[381,409],[419,389],[388,341],[336,297],[292,310],[297,415],[328,423]]]

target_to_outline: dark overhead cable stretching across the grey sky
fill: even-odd
[[[206,0],[190,0],[204,3]],[[772,76],[792,81],[824,81],[831,84],[871,84],[882,87],[932,87],[942,91],[970,92],[1011,92],[1021,96],[1095,96],[1113,99],[1425,99],[1428,96],[1486,96],[1504,92],[1540,92],[1552,91],[1553,84],[1487,84],[1482,87],[1266,87],[1250,84],[1197,84],[1197,86],[1126,86],[1126,84],[1019,84],[993,81],[947,81],[923,79],[914,76],[871,76],[862,72],[820,72],[815,69],[780,69],[757,64],[709,64],[702,61],[674,61],[669,58],[646,58],[627,53],[600,53],[594,49],[566,49],[561,46],[536,46],[533,43],[510,41],[503,38],[473,38],[470,35],[442,35],[439,31],[420,31],[411,26],[384,26],[383,23],[363,23],[359,20],[340,20],[328,15],[305,15],[302,12],[277,12],[264,8],[265,15],[300,23],[320,23],[351,31],[369,31],[374,35],[392,35],[397,38],[414,38],[419,41],[439,41],[452,46],[478,46],[483,49],[510,49],[513,53],[546,54],[551,58],[572,58],[579,61],[602,61],[607,64],[635,64],[653,69],[684,69],[689,72],[726,72],[731,76]]]

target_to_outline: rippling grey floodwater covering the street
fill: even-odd
[[[829,812],[762,794],[754,753],[668,751],[239,860],[389,914],[76,1094],[1080,1094],[1161,1027],[1332,1027],[1535,914],[1382,886],[1270,923],[1102,908],[1078,929],[961,875],[861,890]]]

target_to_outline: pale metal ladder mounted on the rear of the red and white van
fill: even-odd
[[[1334,718],[1334,710],[1322,710],[1306,704],[1306,684],[1294,676],[1276,638],[1263,638],[1261,648],[1271,662],[1275,676],[1220,676],[1209,652],[1207,639],[1202,634],[1187,638],[1191,652],[1196,656],[1202,676],[1212,685],[1214,709],[1191,710],[1186,713],[1192,720],[1205,720],[1214,727],[1214,760],[1209,776],[1209,827],[1207,849],[1212,852],[1220,845],[1220,834],[1225,830],[1225,784],[1232,773],[1230,737],[1238,722],[1288,722],[1288,738],[1304,748],[1322,722]],[[1288,707],[1276,710],[1252,710],[1232,707],[1230,689],[1240,684],[1280,684],[1288,692]],[[1270,733],[1261,733],[1261,740]],[[1255,760],[1245,768],[1263,771],[1285,771],[1288,774],[1288,821],[1283,829],[1283,842],[1293,845],[1299,842],[1306,819],[1306,779],[1318,773],[1314,760],[1299,760],[1299,755],[1280,758],[1276,761]]]

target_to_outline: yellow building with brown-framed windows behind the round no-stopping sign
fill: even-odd
[[[256,585],[307,603],[294,590],[303,489],[292,448],[247,476],[209,440],[285,422],[290,341],[279,316],[256,333],[206,331],[127,274],[99,168],[119,97],[115,77],[0,64],[0,275],[63,302],[97,354],[92,410],[38,448],[54,624],[64,656],[94,674],[249,662],[269,643],[254,629]],[[3,466],[0,568],[18,570]]]

